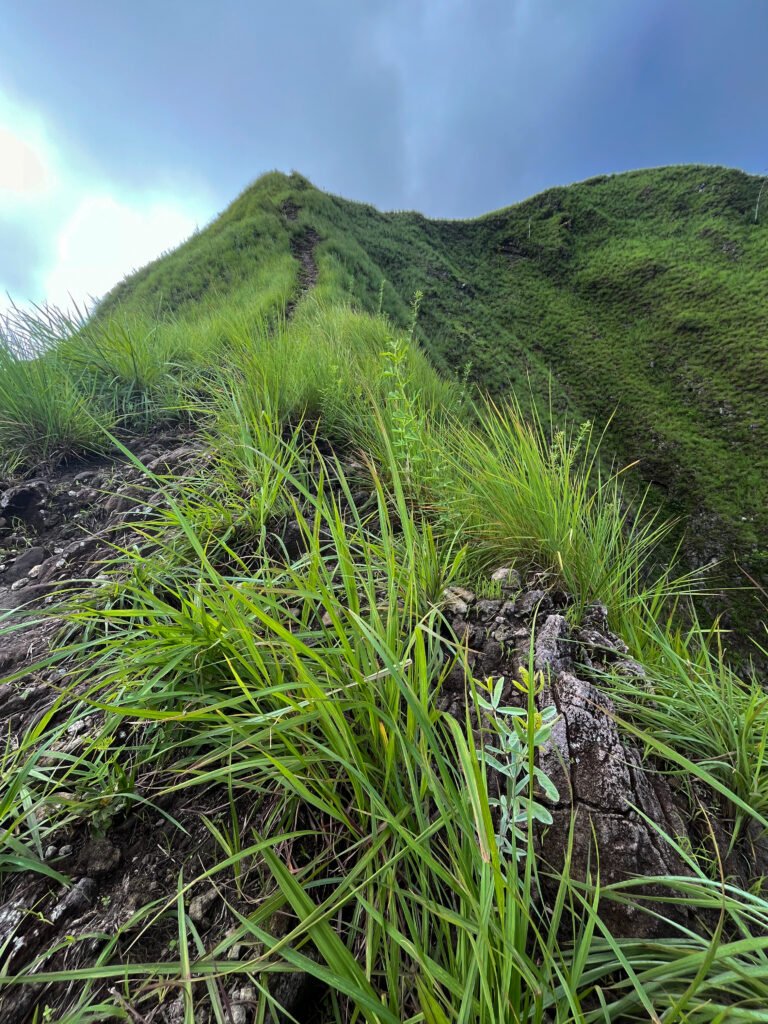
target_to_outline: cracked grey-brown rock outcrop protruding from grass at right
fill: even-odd
[[[627,656],[627,648],[607,628],[606,610],[588,609],[570,628],[565,617],[567,595],[534,587],[508,590],[499,599],[478,598],[466,590],[446,595],[447,617],[457,638],[467,645],[467,664],[476,679],[503,676],[504,699],[520,706],[511,680],[527,669],[531,655],[543,688],[540,711],[557,710],[551,737],[540,751],[539,766],[552,779],[559,800],[550,806],[553,822],[542,826],[537,844],[554,872],[565,862],[570,843],[571,877],[599,879],[602,886],[628,879],[686,873],[682,859],[665,839],[688,842],[685,805],[679,794],[623,735],[613,705],[587,678],[595,663],[637,675],[642,668]],[[464,718],[467,680],[460,665],[446,680],[440,702]],[[546,803],[546,801],[543,800]],[[554,883],[553,883],[554,885]],[[543,880],[545,897],[547,882]],[[652,896],[652,884],[643,890]],[[674,911],[666,910],[668,915]],[[617,936],[651,937],[664,926],[638,907],[606,902],[603,922]]]

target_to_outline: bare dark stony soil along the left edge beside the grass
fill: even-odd
[[[191,435],[179,432],[156,435],[134,449],[158,475],[191,471],[205,458]],[[12,628],[0,636],[0,728],[6,737],[14,739],[34,728],[51,714],[59,695],[68,662],[45,664],[61,630],[57,603],[91,586],[113,556],[113,545],[131,543],[132,523],[162,500],[157,486],[128,461],[94,460],[29,480],[0,481],[0,626]],[[98,733],[100,718],[96,713],[77,723],[72,734],[54,744],[55,753],[77,756]],[[126,752],[129,732],[126,726],[118,737]],[[84,982],[25,983],[30,966],[46,950],[36,972],[92,966],[111,937],[142,908],[152,909],[152,927],[137,922],[129,933],[131,941],[122,939],[111,961],[178,959],[179,879],[188,884],[222,859],[204,819],[226,828],[232,809],[226,788],[178,792],[173,788],[177,781],[162,771],[146,774],[136,782],[137,799],[118,804],[117,811],[111,810],[95,826],[91,821],[59,830],[45,850],[45,860],[70,879],[69,885],[37,872],[0,877],[0,968],[22,982],[0,988],[2,1024],[26,1024],[45,1007],[72,1009]],[[248,791],[234,797],[243,835],[253,827],[261,830],[271,810]],[[187,890],[184,903],[205,947],[211,949],[237,926],[234,911],[251,912],[253,900],[263,895],[263,879],[249,878],[246,871],[236,884],[231,871],[219,871],[212,883]],[[275,931],[280,927],[280,922],[272,925]],[[233,949],[243,958],[257,954],[248,945]],[[232,1024],[250,1021],[256,992],[242,982],[217,985]],[[271,987],[300,1021],[313,1019],[316,997],[310,979],[279,974]],[[142,1005],[140,1016],[124,1004],[117,988],[103,995],[131,1019],[146,1024],[180,1024],[184,1019],[182,997],[172,987],[165,998],[155,1000],[152,1012]],[[196,1011],[196,1021],[209,1019],[206,1011]]]

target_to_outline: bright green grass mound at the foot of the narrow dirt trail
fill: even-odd
[[[289,324],[274,328],[238,317],[227,337],[231,370],[212,388],[214,407],[220,407],[216,430],[230,436],[239,429],[229,399],[219,400],[222,393],[236,393],[249,416],[260,415],[267,396],[270,415],[282,422],[319,419],[326,438],[357,446],[382,466],[383,425],[390,443],[408,443],[411,461],[423,471],[403,459],[401,473],[415,479],[428,470],[429,460],[419,455],[425,427],[417,420],[427,412],[447,413],[457,392],[385,317],[310,295]]]

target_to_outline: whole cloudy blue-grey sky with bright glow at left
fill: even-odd
[[[0,0],[0,311],[87,304],[264,171],[469,217],[768,170],[768,0]]]

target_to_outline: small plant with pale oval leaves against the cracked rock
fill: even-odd
[[[504,676],[494,683],[485,682],[487,697],[477,695],[477,703],[487,712],[497,737],[496,743],[486,743],[477,755],[486,767],[495,769],[506,781],[505,791],[488,801],[499,811],[499,829],[496,840],[504,857],[521,860],[527,850],[524,828],[531,821],[552,824],[549,810],[537,799],[538,791],[551,803],[557,803],[559,794],[552,779],[537,764],[536,752],[550,738],[557,720],[557,710],[550,706],[544,711],[536,709],[536,695],[544,687],[544,676],[537,673],[531,685],[528,671],[520,669],[520,681],[513,685],[526,697],[525,708],[504,706]]]

